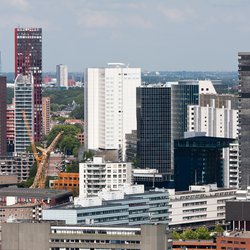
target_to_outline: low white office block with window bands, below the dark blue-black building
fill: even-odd
[[[189,191],[169,189],[169,226],[178,228],[223,223],[225,202],[234,200],[237,189],[217,188],[216,184],[190,186]]]

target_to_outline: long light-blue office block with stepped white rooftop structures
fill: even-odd
[[[127,186],[118,191],[103,190],[98,197],[75,198],[74,205],[43,210],[43,220],[64,220],[83,225],[168,225],[168,193],[144,192],[143,186]]]

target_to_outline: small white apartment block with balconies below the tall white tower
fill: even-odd
[[[102,157],[94,157],[91,162],[80,163],[79,173],[81,197],[132,184],[132,164],[128,162],[105,162]]]

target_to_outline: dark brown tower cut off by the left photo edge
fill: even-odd
[[[0,156],[6,155],[6,109],[7,109],[7,86],[6,77],[0,76]]]

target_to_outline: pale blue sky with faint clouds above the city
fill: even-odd
[[[14,71],[15,27],[43,29],[43,71],[236,71],[249,13],[249,0],[0,0],[2,71]]]

